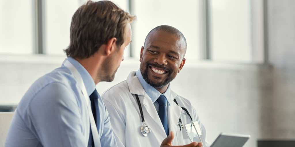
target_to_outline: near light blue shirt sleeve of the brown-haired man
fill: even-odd
[[[44,147],[87,146],[76,96],[62,83],[50,83],[39,91],[24,119]]]

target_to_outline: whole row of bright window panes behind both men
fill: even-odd
[[[70,43],[71,18],[86,0],[38,1],[43,5],[41,53],[65,56],[63,50]],[[125,58],[132,56],[138,59],[149,31],[159,25],[170,25],[186,37],[187,62],[200,59],[246,63],[263,61],[262,0],[113,2],[137,16],[132,24],[132,49],[127,46]],[[208,2],[207,5],[204,2]],[[31,0],[0,1],[0,54],[36,53],[40,39],[36,35],[35,9],[35,1]]]

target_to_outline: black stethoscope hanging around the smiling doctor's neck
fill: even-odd
[[[143,126],[141,126],[141,128],[140,128],[140,132],[142,133],[143,136],[148,136],[148,134],[150,133],[151,130],[150,130],[150,127],[149,126],[146,126],[145,125],[145,119],[143,118],[142,107],[141,107],[141,103],[139,101],[138,95],[135,94],[135,97],[137,99],[137,103],[138,103],[138,107],[139,107],[139,111],[140,111],[140,115],[141,115],[141,121],[143,122]],[[175,98],[174,98],[173,101],[178,105],[178,103],[177,103],[177,101],[176,101]],[[186,112],[186,114],[191,118],[191,123],[193,124],[193,126],[194,126],[194,128],[195,128],[195,130],[197,132],[197,135],[199,136],[199,139],[200,139],[201,143],[203,143],[202,140],[201,140],[201,137],[200,137],[200,135],[199,135],[199,133],[198,133],[198,131],[196,129],[196,126],[194,124],[193,118],[189,114],[189,111],[187,111],[187,109],[186,108],[183,108],[183,107],[181,107],[181,109],[184,110]],[[189,134],[187,133],[186,129],[184,128],[180,117],[179,117],[178,125],[179,125],[179,128],[180,128],[180,131],[181,131],[181,127],[182,127],[183,130],[186,132],[186,135],[189,137]],[[191,142],[193,142],[190,137],[189,137],[189,139],[190,139]]]

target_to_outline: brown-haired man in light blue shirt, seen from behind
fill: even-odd
[[[124,60],[124,49],[131,42],[130,23],[134,19],[110,1],[89,1],[72,18],[65,62],[77,69],[90,99],[96,97],[94,103],[91,100],[100,138],[96,146],[117,146],[109,114],[95,89],[100,81],[114,79]],[[94,146],[88,102],[65,62],[35,81],[25,93],[12,119],[6,147]]]

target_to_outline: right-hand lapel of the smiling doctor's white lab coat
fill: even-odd
[[[172,98],[174,99],[177,94],[171,91]],[[172,100],[173,100],[172,99]],[[168,127],[169,132],[173,131],[173,133],[176,133],[177,124],[179,121],[179,117],[181,115],[181,107],[178,106],[174,101],[170,103],[170,106],[168,105]],[[174,139],[175,140],[175,139]],[[173,142],[174,142],[173,140]],[[172,144],[173,144],[172,142]]]

